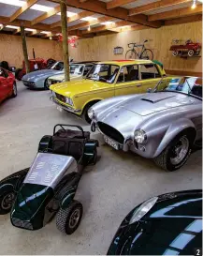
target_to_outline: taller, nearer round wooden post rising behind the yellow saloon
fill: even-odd
[[[67,17],[66,17],[66,5],[64,2],[60,2],[61,6],[61,22],[62,22],[62,35],[63,35],[63,56],[64,56],[64,68],[65,68],[65,82],[70,81],[69,72],[69,54],[67,43]]]

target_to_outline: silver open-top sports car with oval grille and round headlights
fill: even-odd
[[[151,93],[108,98],[89,110],[97,128],[116,150],[152,158],[167,171],[187,161],[202,142],[202,78],[160,81]],[[164,87],[165,86],[165,87]]]

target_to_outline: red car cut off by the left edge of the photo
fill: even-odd
[[[5,98],[16,97],[17,86],[14,75],[4,68],[0,68],[0,102]]]

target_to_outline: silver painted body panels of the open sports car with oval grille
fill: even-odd
[[[124,137],[120,144],[123,151],[130,150],[144,158],[160,155],[185,128],[196,130],[196,140],[202,137],[202,100],[186,94],[157,92],[108,98],[92,109],[97,128],[98,121],[116,128]],[[147,134],[147,143],[138,147],[134,143],[137,129]]]

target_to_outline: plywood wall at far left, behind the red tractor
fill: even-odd
[[[62,43],[40,38],[27,38],[28,56],[33,58],[33,48],[36,57],[62,60]],[[0,34],[0,61],[6,60],[10,66],[22,67],[22,41],[20,36]]]

